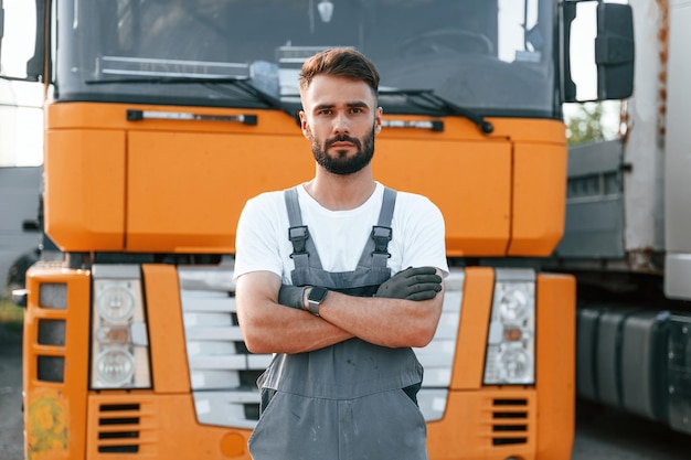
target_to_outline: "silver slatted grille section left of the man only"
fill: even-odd
[[[201,424],[253,428],[259,418],[256,379],[270,354],[251,354],[235,313],[233,267],[178,270],[190,383]]]

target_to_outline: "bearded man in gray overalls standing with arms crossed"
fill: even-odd
[[[276,353],[258,382],[249,452],[426,459],[412,347],[429,343],[442,312],[442,214],[373,179],[382,108],[366,57],[327,50],[304,64],[299,83],[316,175],[249,200],[237,228],[240,325],[252,352]]]

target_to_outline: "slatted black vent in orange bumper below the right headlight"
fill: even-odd
[[[492,405],[492,445],[528,443],[528,400],[495,399]]]

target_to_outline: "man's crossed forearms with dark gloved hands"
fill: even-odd
[[[444,299],[442,277],[434,267],[398,271],[373,298],[329,291],[319,307],[326,314],[321,318],[308,313],[311,289],[280,285],[275,302],[265,298],[263,308],[252,309],[257,321],[244,332],[252,334],[252,344],[274,353],[298,353],[358,336],[382,346],[424,346],[436,331]]]

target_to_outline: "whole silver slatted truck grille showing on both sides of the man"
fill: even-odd
[[[270,354],[247,351],[237,323],[233,265],[179,267],[190,383],[200,424],[254,428],[259,418],[256,379]],[[465,272],[447,278],[444,309],[432,343],[415,349],[425,367],[417,395],[427,421],[444,417],[454,365]]]

